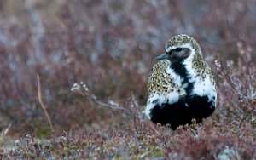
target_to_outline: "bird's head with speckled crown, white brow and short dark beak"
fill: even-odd
[[[185,59],[193,58],[195,54],[201,56],[201,49],[199,44],[193,37],[181,34],[174,37],[166,43],[166,53],[161,54],[154,60],[170,60],[171,62],[183,61]]]

